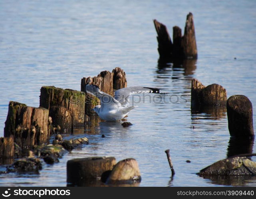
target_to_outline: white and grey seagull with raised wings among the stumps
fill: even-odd
[[[139,93],[159,93],[157,88],[149,88],[142,86],[133,86],[121,88],[115,91],[114,97],[99,90],[99,86],[87,84],[85,87],[87,93],[99,98],[101,105],[96,105],[93,110],[99,117],[105,121],[121,121],[129,111],[138,106],[129,106],[129,96]]]

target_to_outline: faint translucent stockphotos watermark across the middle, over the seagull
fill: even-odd
[[[116,103],[116,101],[113,98],[109,98],[108,95],[102,95],[102,96],[96,96],[101,100],[101,103],[108,104],[108,103]],[[124,104],[129,103],[130,105],[134,106],[139,103],[175,103],[175,104],[185,104],[187,103],[189,95],[187,94],[133,94],[131,96],[125,96],[125,95],[116,95],[115,99],[118,101],[121,101]],[[87,103],[93,103],[95,104],[97,100],[95,100],[95,97],[92,95],[86,96]],[[75,102],[75,101],[74,101]]]

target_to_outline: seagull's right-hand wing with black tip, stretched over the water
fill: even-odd
[[[129,105],[129,96],[131,94],[139,94],[139,93],[159,93],[160,90],[157,88],[149,88],[149,87],[142,87],[142,86],[133,86],[127,88],[121,88],[115,91],[114,98],[115,100],[119,101],[121,105]]]

